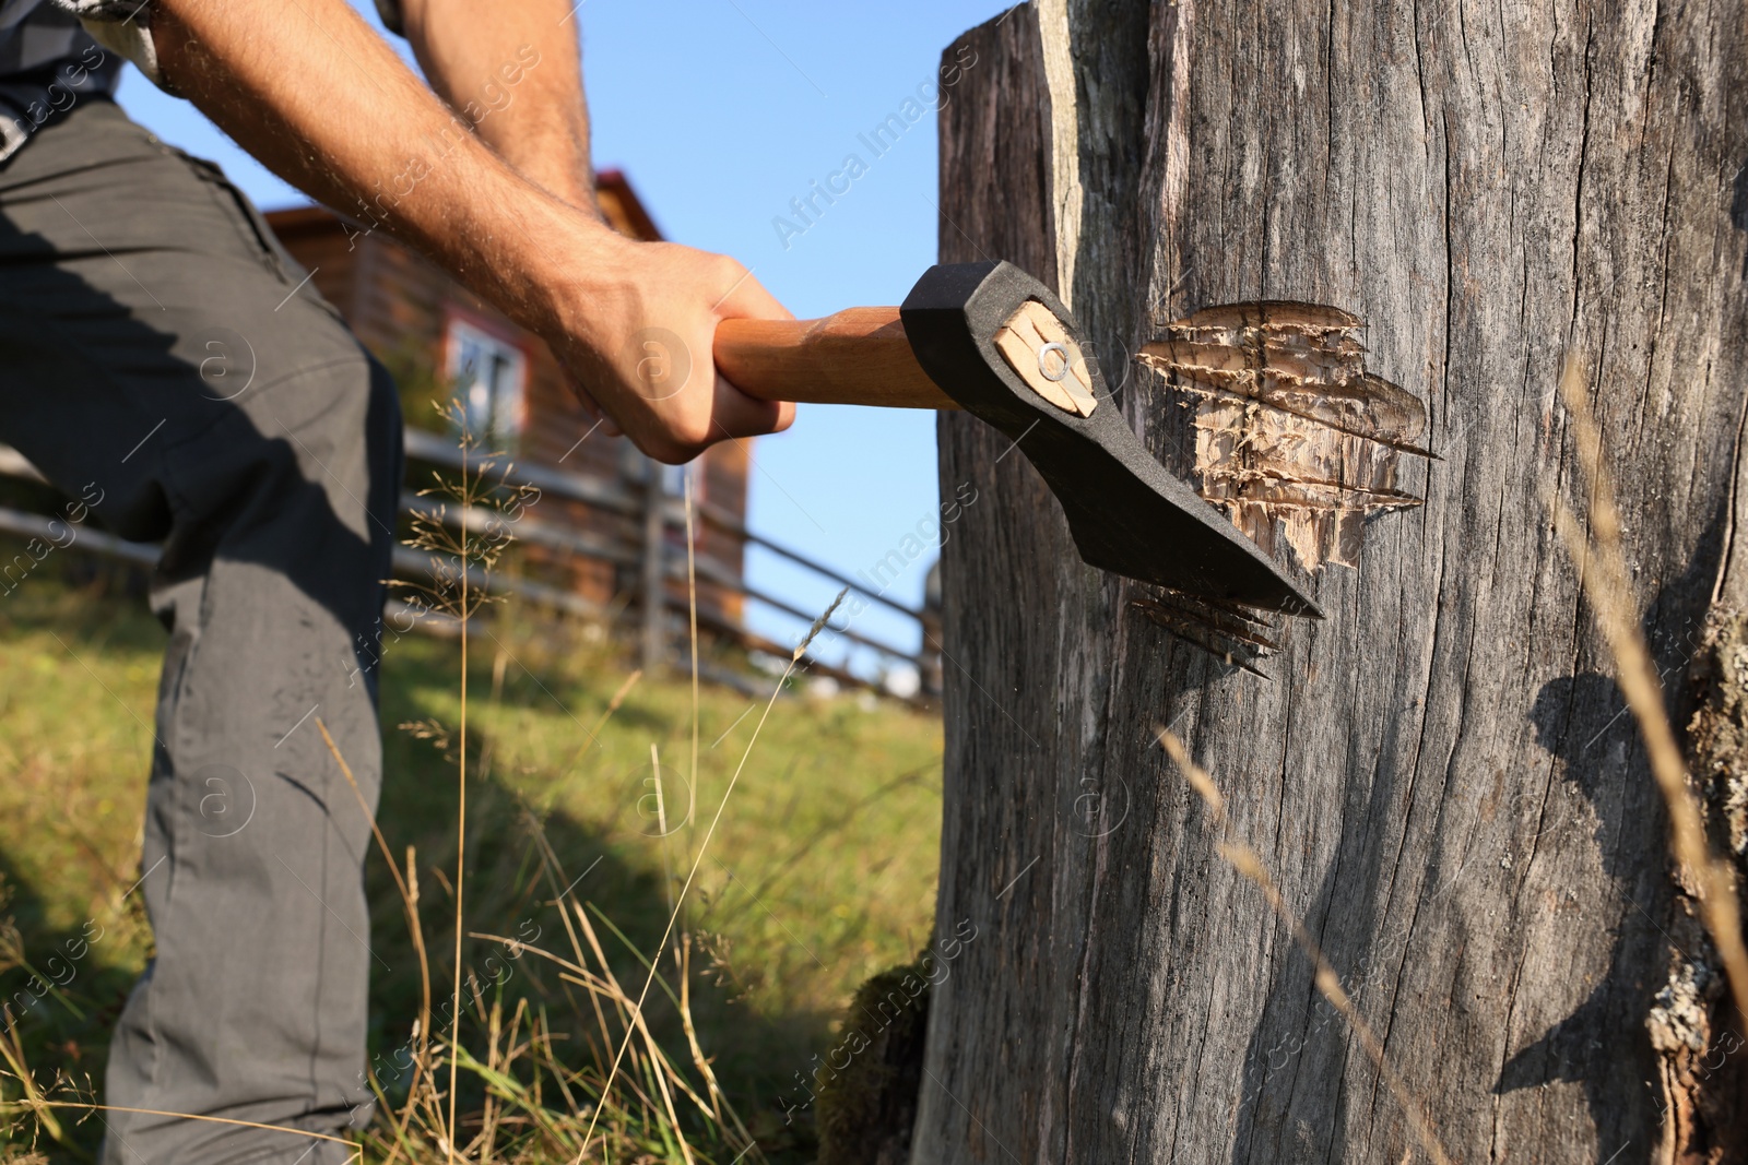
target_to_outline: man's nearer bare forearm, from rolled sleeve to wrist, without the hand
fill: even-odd
[[[166,80],[281,178],[535,330],[558,311],[542,239],[575,236],[577,215],[468,133],[344,0],[157,0],[152,37]]]

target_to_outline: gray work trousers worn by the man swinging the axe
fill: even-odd
[[[369,1116],[371,828],[316,720],[374,812],[400,412],[302,279],[215,166],[107,100],[0,162],[0,440],[164,547],[156,954],[110,1050],[105,1165],[337,1165],[292,1130]]]

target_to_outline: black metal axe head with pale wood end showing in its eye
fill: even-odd
[[[1073,318],[1047,286],[1007,262],[940,264],[898,311],[923,372],[1044,475],[1089,566],[1203,599],[1323,617],[1147,452],[1098,369],[1079,358]]]

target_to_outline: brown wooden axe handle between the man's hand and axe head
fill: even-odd
[[[748,396],[822,405],[958,409],[916,363],[897,307],[823,320],[724,320],[717,370]]]

